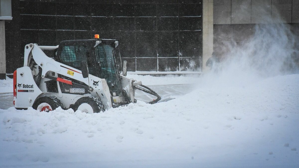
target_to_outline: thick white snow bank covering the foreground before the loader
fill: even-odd
[[[0,110],[0,167],[299,166],[299,74],[204,78],[174,100],[99,114]]]

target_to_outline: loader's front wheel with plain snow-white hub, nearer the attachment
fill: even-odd
[[[75,103],[74,111],[77,110],[92,114],[104,112],[105,107],[102,101],[96,97],[82,97]]]

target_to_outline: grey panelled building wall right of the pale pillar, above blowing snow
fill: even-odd
[[[214,0],[213,5],[216,55],[224,55],[225,46],[242,45],[252,37],[256,24],[264,24],[265,18],[276,18],[277,13],[281,19],[276,23],[289,24],[292,32],[299,34],[298,0]]]

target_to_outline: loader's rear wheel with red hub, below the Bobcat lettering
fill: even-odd
[[[39,97],[34,103],[32,108],[40,112],[49,112],[55,110],[57,107],[62,106],[59,99],[54,96],[43,96]]]

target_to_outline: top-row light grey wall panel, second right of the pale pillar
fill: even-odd
[[[231,23],[251,23],[251,0],[231,0]]]

